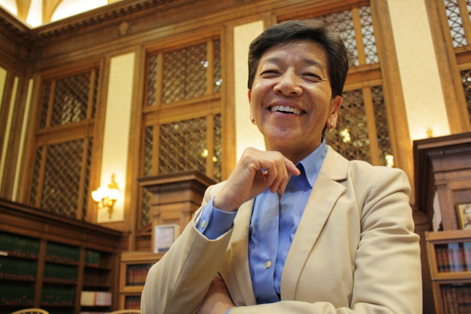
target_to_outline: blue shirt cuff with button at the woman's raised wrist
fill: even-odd
[[[214,197],[202,209],[196,229],[206,238],[215,240],[228,232],[236,218],[237,211],[223,212],[213,206]]]

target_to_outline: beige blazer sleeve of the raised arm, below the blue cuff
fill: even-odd
[[[209,188],[203,205],[210,197]],[[201,208],[200,208],[201,209]],[[195,215],[197,217],[197,215]],[[190,222],[149,270],[141,296],[143,314],[193,314],[216,276],[232,230],[208,240]]]

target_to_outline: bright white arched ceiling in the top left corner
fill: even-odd
[[[121,0],[0,0],[0,6],[32,27]]]

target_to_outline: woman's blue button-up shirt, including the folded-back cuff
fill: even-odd
[[[280,282],[286,256],[306,207],[312,186],[327,152],[325,140],[296,166],[281,198],[267,189],[255,197],[250,221],[249,266],[257,304],[280,300]],[[236,217],[213,207],[213,199],[202,210],[198,230],[208,239],[227,232]]]

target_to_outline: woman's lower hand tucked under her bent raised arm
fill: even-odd
[[[206,292],[197,314],[224,314],[232,307],[234,307],[234,303],[229,296],[226,284],[216,276],[211,282],[210,289]]]

